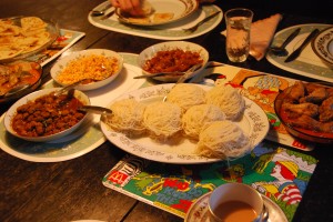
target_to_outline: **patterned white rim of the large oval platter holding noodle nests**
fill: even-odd
[[[147,98],[157,98],[157,97],[162,97],[162,94],[165,94],[165,92],[168,92],[168,90],[170,90],[172,87],[174,85],[174,83],[164,83],[164,84],[157,84],[157,85],[151,85],[151,87],[145,87],[145,88],[140,88],[138,90],[131,91],[131,92],[127,92],[120,97],[118,97],[115,100],[110,101],[108,103],[108,105],[110,105],[112,102],[123,99],[123,98],[129,98],[129,97],[140,97],[140,94],[144,94],[147,95]],[[204,89],[211,89],[211,85],[204,85],[204,84],[196,84],[199,87],[202,87]],[[149,90],[155,90],[158,91],[158,95],[155,94],[151,94],[151,93],[145,93]],[[147,99],[144,98],[144,99]],[[246,107],[252,107],[254,105],[256,111],[260,111],[261,113],[259,114],[256,113],[252,113],[253,119],[256,118],[262,118],[264,119],[264,125],[260,125],[260,127],[252,127],[250,123],[250,128],[252,128],[253,131],[260,131],[262,132],[262,134],[255,134],[252,133],[250,137],[250,141],[252,143],[252,150],[264,140],[264,138],[268,135],[269,129],[270,129],[270,123],[269,123],[269,119],[265,114],[265,112],[262,110],[262,108],[260,108],[255,102],[253,102],[252,100],[243,97],[245,100],[245,111],[246,111]],[[250,119],[250,118],[249,118]],[[248,120],[249,120],[248,119]],[[252,120],[253,120],[252,119]],[[151,150],[148,149],[144,145],[141,145],[139,143],[137,143],[135,141],[132,141],[130,138],[128,138],[127,135],[124,135],[123,133],[119,133],[115,132],[113,130],[110,130],[109,127],[101,120],[100,121],[100,127],[101,130],[104,134],[104,137],[107,138],[108,141],[110,141],[111,143],[113,143],[115,147],[118,147],[119,149],[129,152],[133,155],[147,159],[147,160],[151,160],[151,161],[155,161],[155,162],[162,162],[162,163],[170,163],[170,164],[198,164],[198,163],[213,163],[213,162],[219,162],[219,161],[223,161],[221,159],[209,159],[209,158],[204,158],[204,157],[199,157],[195,154],[180,154],[180,153],[169,153],[169,152],[164,152],[164,151],[158,151],[158,150]],[[255,138],[255,137],[259,137]],[[125,144],[123,143],[123,141],[125,141]],[[131,147],[132,145],[132,147]],[[147,151],[147,152],[144,152]],[[161,158],[163,157],[163,158]]]

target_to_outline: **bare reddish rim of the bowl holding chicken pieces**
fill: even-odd
[[[295,137],[297,139],[301,139],[301,140],[306,140],[306,141],[310,141],[310,142],[320,142],[320,143],[333,143],[333,133],[332,133],[332,138],[320,135],[320,133],[319,134],[309,134],[306,132],[303,132],[303,131],[299,130],[297,128],[294,128],[294,127],[290,125],[282,118],[282,115],[280,114],[281,105],[282,105],[282,102],[283,102],[283,99],[284,99],[285,94],[287,93],[287,91],[291,90],[292,87],[293,85],[290,85],[290,87],[285,88],[282,92],[280,92],[276,95],[276,98],[274,100],[274,112],[275,112],[276,117],[279,118],[279,120],[281,121],[281,123],[285,127],[286,131],[289,133],[291,133],[293,137]],[[323,85],[323,87],[325,87],[325,85]]]

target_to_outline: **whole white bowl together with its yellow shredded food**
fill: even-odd
[[[91,64],[91,60],[88,59],[89,57],[103,58],[108,60],[110,63],[109,65],[107,65],[102,63],[104,62],[102,61],[102,62],[95,62]],[[83,61],[83,62],[78,63],[78,61]],[[69,65],[77,69],[77,71],[70,71],[67,74],[69,79],[72,81],[70,83],[74,83],[82,79],[88,79],[88,81],[84,82],[84,84],[82,83],[75,87],[75,89],[78,90],[88,91],[88,90],[102,88],[109,84],[110,82],[112,82],[120,74],[123,68],[123,58],[118,52],[105,50],[105,49],[88,49],[83,51],[73,52],[67,57],[63,57],[59,59],[50,70],[52,79],[62,87],[70,84],[70,83],[61,82],[59,80],[60,74]],[[115,68],[113,65],[115,65]],[[92,73],[89,73],[87,70],[91,70]],[[72,78],[73,73],[77,74],[78,77]],[[97,75],[97,73],[100,74]],[[93,79],[97,77],[98,79]]]

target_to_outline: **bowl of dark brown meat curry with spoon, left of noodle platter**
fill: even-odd
[[[43,89],[18,100],[4,115],[9,133],[32,142],[50,142],[80,128],[87,113],[79,111],[89,105],[87,94],[79,90],[54,95],[61,88]]]

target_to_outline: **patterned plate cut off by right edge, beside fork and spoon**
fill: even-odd
[[[333,64],[333,27],[322,30],[312,41],[314,53],[329,64]]]

